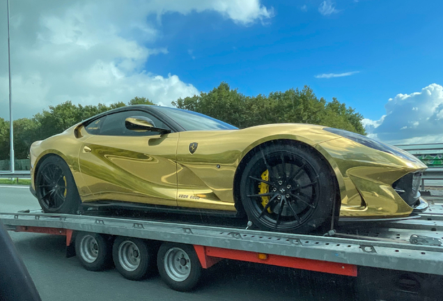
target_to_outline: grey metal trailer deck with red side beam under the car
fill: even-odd
[[[354,277],[357,267],[443,275],[443,199],[428,200],[417,219],[350,225],[334,236],[91,215],[0,213],[0,220],[10,231],[66,236],[68,247],[75,231],[194,245],[202,268],[230,258]],[[412,235],[424,245],[413,245]]]

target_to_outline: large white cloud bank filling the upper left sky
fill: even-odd
[[[90,105],[127,102],[138,95],[170,105],[198,94],[178,75],[155,75],[145,64],[151,56],[169,53],[167,45],[155,43],[162,35],[162,15],[209,10],[239,26],[265,22],[273,15],[259,0],[10,3],[14,118],[66,100]],[[0,12],[0,20],[6,20],[6,11]],[[159,21],[149,22],[150,15]],[[7,39],[5,27],[0,26],[0,40]],[[6,43],[0,43],[0,57],[7,57]],[[8,118],[6,59],[0,61],[0,95],[0,117]]]

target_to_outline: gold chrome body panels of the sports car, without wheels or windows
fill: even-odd
[[[286,123],[115,137],[89,134],[79,123],[31,146],[31,176],[35,177],[43,157],[55,154],[70,167],[84,203],[112,200],[235,212],[234,184],[239,180],[240,162],[256,146],[286,140],[309,145],[327,160],[339,187],[341,217],[407,217],[412,213],[392,184],[407,173],[423,171],[426,165],[323,128]],[[33,180],[32,185],[35,188]]]

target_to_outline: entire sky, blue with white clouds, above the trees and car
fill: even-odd
[[[309,85],[362,113],[371,137],[443,139],[442,1],[24,1],[10,1],[15,118],[65,100],[170,105],[220,82]],[[0,24],[4,40],[3,9]],[[0,95],[7,119],[6,59]]]

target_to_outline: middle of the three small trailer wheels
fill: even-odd
[[[153,272],[154,249],[139,238],[116,238],[112,257],[116,269],[126,279],[141,280]]]

